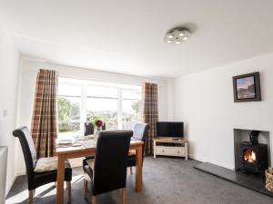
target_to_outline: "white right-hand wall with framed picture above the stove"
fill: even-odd
[[[232,76],[252,72],[260,72],[262,102],[233,102]],[[273,131],[273,53],[178,77],[173,87],[174,120],[186,122],[197,160],[233,169],[234,128]]]

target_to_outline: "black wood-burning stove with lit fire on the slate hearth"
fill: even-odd
[[[268,169],[268,145],[242,141],[240,143],[240,160],[241,170],[264,173]]]

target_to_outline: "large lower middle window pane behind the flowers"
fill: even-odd
[[[117,99],[88,97],[86,107],[87,121],[96,116],[106,122],[106,130],[117,130]]]

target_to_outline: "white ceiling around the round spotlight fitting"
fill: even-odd
[[[272,0],[0,0],[0,18],[24,55],[158,77],[272,52],[272,11]],[[166,44],[177,25],[191,38]]]

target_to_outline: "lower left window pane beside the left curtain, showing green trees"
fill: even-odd
[[[59,138],[70,138],[73,133],[80,131],[80,97],[58,98],[58,129]]]

